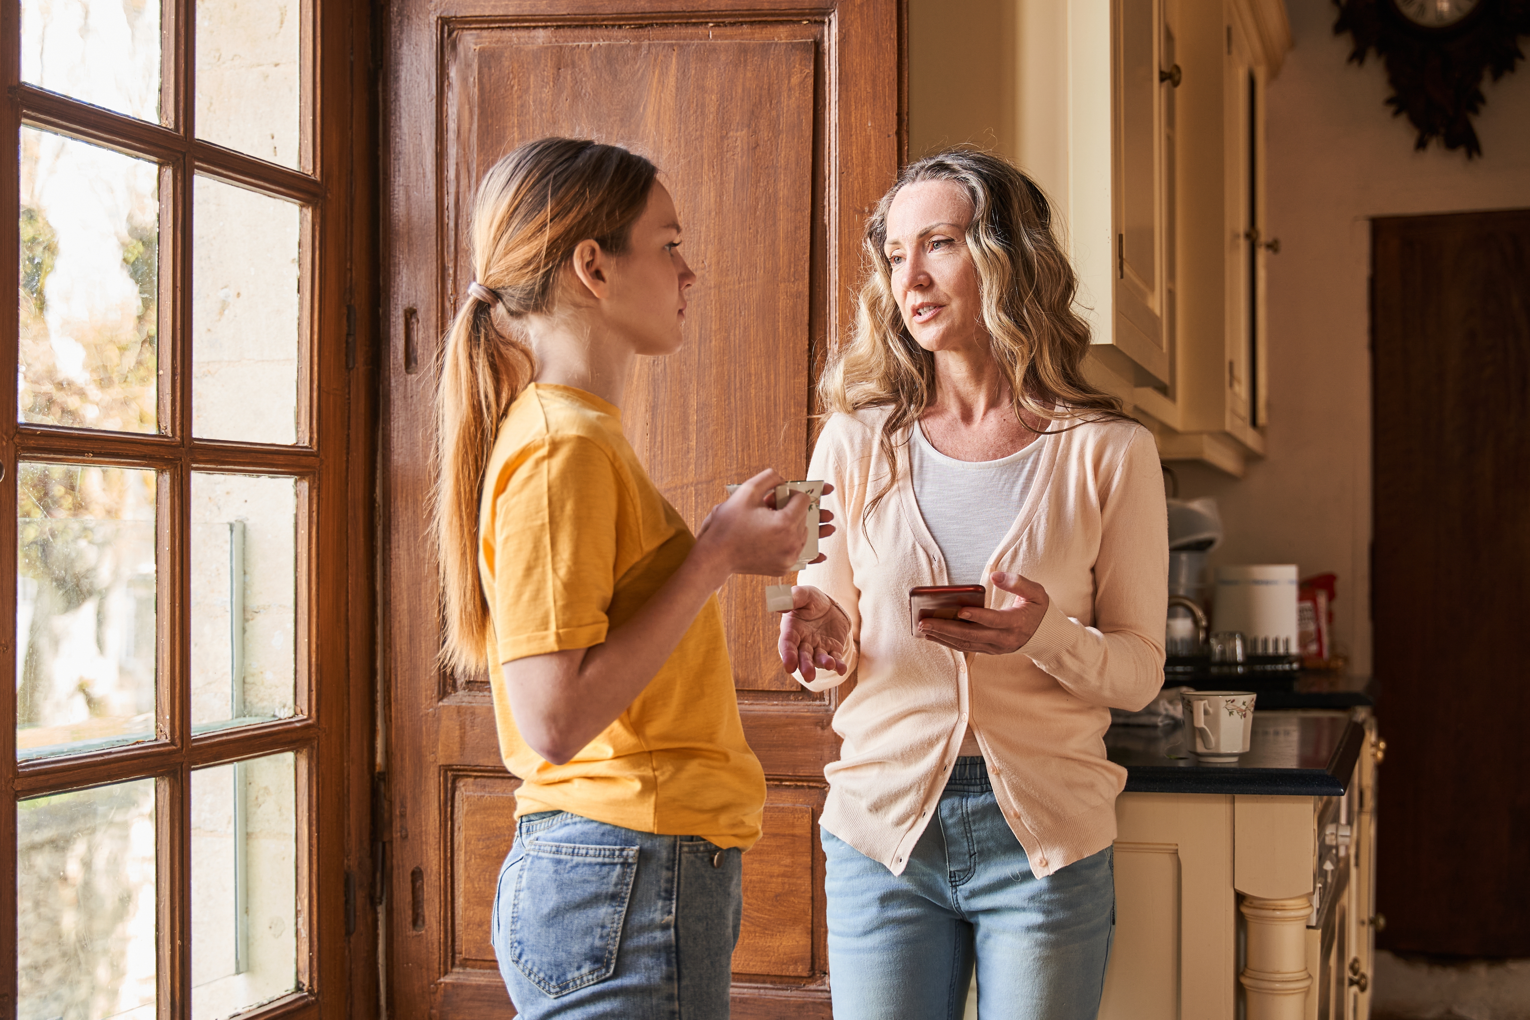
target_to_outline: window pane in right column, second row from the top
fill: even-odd
[[[196,179],[191,433],[297,442],[300,210]]]

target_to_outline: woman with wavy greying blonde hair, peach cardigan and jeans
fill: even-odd
[[[1089,385],[1076,277],[1040,190],[996,156],[907,167],[866,225],[854,339],[820,384],[809,477],[842,500],[782,616],[834,717],[837,1020],[1099,1012],[1125,771],[1109,710],[1163,682],[1167,526],[1154,439]],[[981,583],[924,619],[909,589]]]

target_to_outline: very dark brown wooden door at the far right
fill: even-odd
[[[1530,956],[1530,210],[1372,226],[1377,907]]]

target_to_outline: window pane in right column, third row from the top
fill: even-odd
[[[297,483],[191,476],[191,725],[294,713]]]

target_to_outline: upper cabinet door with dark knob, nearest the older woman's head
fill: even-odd
[[[1115,344],[1167,382],[1164,330],[1164,99],[1160,81],[1164,0],[1114,5]]]

